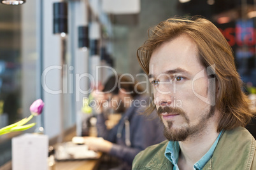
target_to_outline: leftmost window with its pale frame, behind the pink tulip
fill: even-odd
[[[0,128],[29,117],[29,106],[39,98],[36,17],[34,1],[0,4]],[[0,136],[0,166],[11,160],[11,138],[21,133]]]

